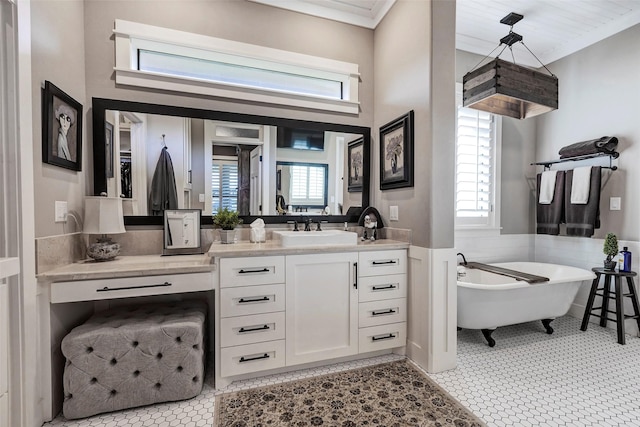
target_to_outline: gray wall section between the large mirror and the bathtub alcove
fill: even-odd
[[[386,225],[412,229],[422,247],[453,246],[454,31],[455,3],[402,0],[375,31],[373,204]],[[410,110],[414,186],[381,191],[378,129]],[[388,221],[393,205],[398,222]]]

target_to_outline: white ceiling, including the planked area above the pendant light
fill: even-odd
[[[251,0],[375,28],[395,0]],[[509,32],[500,19],[516,12],[524,19],[513,31],[543,64],[549,64],[640,23],[640,0],[457,0],[456,47],[489,55]],[[502,46],[504,47],[504,46]],[[496,50],[495,57],[502,47]],[[515,62],[539,67],[521,43],[513,45]],[[502,59],[512,61],[507,49]]]

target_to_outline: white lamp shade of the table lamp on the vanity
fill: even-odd
[[[124,233],[122,199],[119,197],[86,197],[84,200],[85,234]]]

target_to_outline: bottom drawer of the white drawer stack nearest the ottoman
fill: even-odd
[[[284,340],[226,347],[220,350],[220,375],[248,374],[284,366]]]

